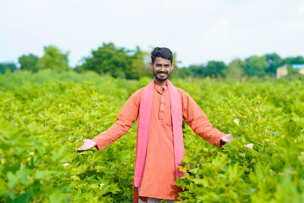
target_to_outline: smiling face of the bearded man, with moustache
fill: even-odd
[[[156,57],[154,64],[150,63],[150,68],[153,71],[155,80],[165,81],[169,78],[174,64],[171,64],[169,59]]]

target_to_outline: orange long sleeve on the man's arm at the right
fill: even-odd
[[[204,140],[220,148],[224,144],[220,138],[225,133],[213,128],[206,114],[189,94],[181,89],[179,92],[182,97],[183,117],[186,123]]]

